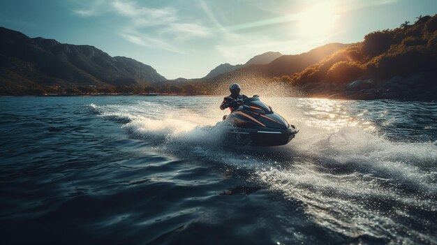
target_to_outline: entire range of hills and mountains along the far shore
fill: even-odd
[[[230,83],[239,82],[248,95],[437,101],[436,61],[437,15],[373,31],[359,43],[330,43],[295,55],[267,52],[246,64],[221,64],[207,77],[175,80],[96,47],[29,38],[0,27],[0,95],[223,95]]]

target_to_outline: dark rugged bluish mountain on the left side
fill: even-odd
[[[0,86],[106,87],[165,81],[154,68],[90,45],[29,38],[0,27]]]

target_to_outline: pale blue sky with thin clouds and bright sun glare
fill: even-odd
[[[300,54],[435,15],[436,0],[0,0],[0,26],[93,45],[168,79],[264,52]]]

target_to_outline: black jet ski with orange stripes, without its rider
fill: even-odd
[[[259,96],[232,103],[237,103],[239,107],[223,117],[223,122],[230,126],[227,136],[231,140],[242,144],[275,146],[287,144],[299,132]]]

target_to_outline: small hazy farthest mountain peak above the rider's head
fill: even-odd
[[[237,70],[238,68],[250,66],[253,64],[258,65],[264,65],[269,64],[270,62],[274,61],[275,59],[281,57],[282,54],[280,52],[265,52],[264,54],[258,54],[255,57],[249,59],[249,61],[246,62],[246,64],[242,65],[231,65],[228,63],[221,64],[217,66],[216,68],[212,69],[208,75],[206,75],[204,78],[212,78],[216,77],[218,75],[221,75],[223,73],[230,73],[233,70]]]

